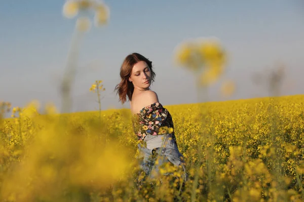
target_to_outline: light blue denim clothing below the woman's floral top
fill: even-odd
[[[144,141],[146,142],[146,147],[138,144],[138,158],[142,158],[141,169],[146,176],[156,178],[163,164],[172,163],[177,167],[181,166],[183,169],[182,178],[184,181],[187,180],[185,162],[172,139],[172,134],[147,135]],[[170,173],[166,173],[165,175],[170,175]]]

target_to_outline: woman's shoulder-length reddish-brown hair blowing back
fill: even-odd
[[[129,77],[131,76],[133,66],[140,61],[144,61],[148,65],[151,71],[151,81],[154,81],[155,73],[152,69],[152,62],[138,53],[128,55],[121,66],[120,76],[122,80],[115,87],[117,94],[119,94],[119,101],[121,101],[122,104],[127,101],[127,96],[129,100],[132,99],[134,86],[133,83],[129,81]]]

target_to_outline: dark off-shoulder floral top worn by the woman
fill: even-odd
[[[146,135],[172,133],[176,143],[172,117],[160,103],[144,107],[139,113],[134,114],[132,122],[134,132],[139,140],[143,140]]]

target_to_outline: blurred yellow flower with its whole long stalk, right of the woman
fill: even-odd
[[[194,39],[180,43],[175,49],[175,63],[178,66],[182,66],[189,71],[192,71],[195,76],[197,99],[199,103],[207,102],[208,100],[208,86],[215,83],[222,75],[226,63],[226,54],[221,47],[219,41],[215,38],[210,39]],[[203,123],[207,126],[209,117],[208,110],[205,109],[202,112]],[[203,127],[204,128],[204,127]],[[207,138],[207,142],[212,142],[212,136],[209,131],[202,129],[199,131],[200,136]],[[202,139],[201,139],[201,142]],[[202,149],[202,146],[198,146],[198,161],[195,166],[195,175],[192,187],[191,201],[197,200],[197,188],[199,185],[199,172],[203,162],[202,159],[204,153],[206,156],[206,172],[208,176],[208,193],[211,194],[213,190],[212,180],[212,159],[213,150],[209,146],[206,149]],[[208,197],[209,197],[208,194]]]

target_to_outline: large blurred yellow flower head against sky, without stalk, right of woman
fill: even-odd
[[[184,41],[175,48],[174,58],[177,65],[194,71],[202,86],[214,83],[226,63],[225,52],[214,38]]]

